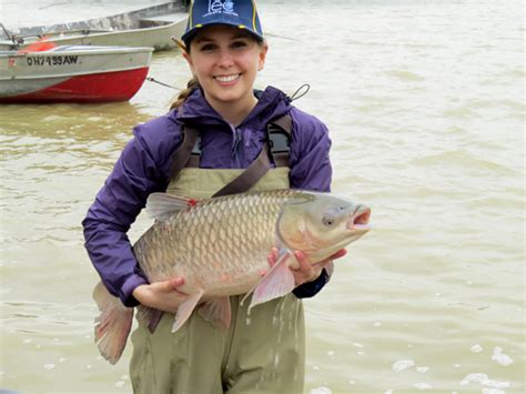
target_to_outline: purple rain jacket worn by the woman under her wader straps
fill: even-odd
[[[326,127],[292,107],[291,99],[275,88],[269,87],[257,92],[257,97],[255,108],[236,128],[209,105],[200,89],[180,109],[134,128],[134,138],[122,151],[82,221],[88,254],[108,291],[124,305],[136,306],[139,302],[132,292],[148,283],[127,232],[145,206],[148,195],[166,190],[172,153],[182,142],[183,122],[201,132],[201,168],[245,169],[266,140],[266,124],[289,113],[293,122],[291,188],[330,191],[331,140]],[[317,280],[296,287],[294,294],[313,296],[327,281],[328,275],[323,271]]]

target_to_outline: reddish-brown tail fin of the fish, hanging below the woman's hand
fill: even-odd
[[[127,345],[133,321],[133,307],[127,307],[111,295],[102,282],[93,290],[93,299],[101,314],[95,317],[95,343],[101,355],[115,364]]]

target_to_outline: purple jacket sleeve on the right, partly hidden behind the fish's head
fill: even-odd
[[[297,109],[291,111],[291,117],[294,130],[291,143],[291,188],[330,192],[332,166],[327,128],[316,118]],[[315,281],[297,286],[293,293],[299,299],[312,297],[330,277],[327,270],[323,270]]]

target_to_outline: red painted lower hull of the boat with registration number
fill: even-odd
[[[0,98],[2,103],[128,101],[141,89],[148,67],[79,75],[36,92]]]

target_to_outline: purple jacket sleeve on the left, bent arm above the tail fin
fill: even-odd
[[[139,304],[132,292],[148,283],[127,232],[148,195],[164,189],[162,171],[135,129],[135,137],[122,151],[82,222],[84,245],[95,270],[108,291],[127,306]]]

